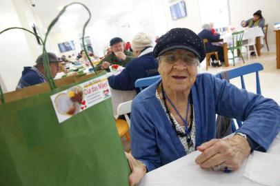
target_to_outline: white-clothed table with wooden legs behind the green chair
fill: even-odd
[[[256,38],[256,49],[258,56],[261,56],[261,45],[263,44],[263,30],[260,27],[248,28],[243,34],[243,41],[249,38]],[[225,59],[225,66],[228,67],[228,43],[232,43],[232,33],[228,32],[221,35],[223,42],[223,54]]]

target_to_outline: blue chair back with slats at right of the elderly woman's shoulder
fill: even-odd
[[[232,70],[229,70],[229,79],[234,79],[240,76],[241,79],[241,87],[242,89],[246,90],[243,75],[250,74],[250,73],[256,73],[256,83],[257,83],[257,94],[261,94],[261,85],[259,83],[259,71],[263,70],[263,65],[261,63],[252,63],[250,65],[245,65],[240,68],[234,68]],[[221,74],[216,74],[216,77],[221,79]],[[237,121],[237,125],[241,127],[242,122]],[[235,124],[232,123],[232,132],[236,132],[237,129],[235,127]]]

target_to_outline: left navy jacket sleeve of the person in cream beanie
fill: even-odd
[[[130,68],[125,68],[117,76],[110,76],[108,79],[110,87],[115,90],[134,90],[129,72]]]

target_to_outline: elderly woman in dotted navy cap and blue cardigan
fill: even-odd
[[[170,30],[155,46],[161,81],[132,102],[130,185],[196,149],[201,168],[236,170],[253,150],[266,151],[279,132],[280,107],[272,99],[197,74],[205,55],[203,41],[186,28]],[[214,139],[216,114],[243,125],[229,138]]]

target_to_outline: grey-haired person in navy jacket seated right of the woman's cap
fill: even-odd
[[[210,27],[210,24],[204,24],[202,26],[202,31],[199,32],[199,37],[201,39],[207,39],[208,42],[205,44],[206,52],[218,52],[219,60],[223,63],[224,57],[223,57],[223,47],[219,45],[213,45],[213,42],[219,42],[220,34],[212,32],[212,28]],[[211,59],[213,61],[212,65],[219,66],[218,61],[216,60],[215,56],[212,55]]]

